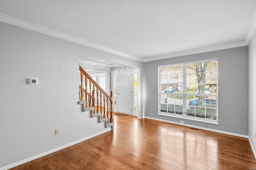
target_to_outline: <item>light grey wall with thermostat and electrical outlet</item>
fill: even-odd
[[[142,62],[0,22],[0,167],[106,130],[77,104],[79,56],[143,67]],[[26,84],[28,78],[38,78],[38,85]]]

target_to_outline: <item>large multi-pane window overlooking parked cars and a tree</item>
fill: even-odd
[[[218,122],[218,60],[159,66],[159,114]]]

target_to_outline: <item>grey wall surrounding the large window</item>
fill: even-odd
[[[218,62],[219,125],[158,115],[158,65],[220,58]],[[144,63],[146,117],[248,135],[248,46]]]

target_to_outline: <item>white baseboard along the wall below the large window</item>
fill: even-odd
[[[182,125],[182,126],[187,126],[187,127],[194,127],[194,128],[202,129],[202,130],[206,130],[206,131],[212,131],[212,132],[217,132],[217,133],[223,133],[223,134],[226,134],[226,135],[232,135],[232,136],[237,136],[237,137],[243,137],[243,138],[247,138],[247,139],[249,138],[248,135],[241,135],[241,134],[237,134],[237,133],[231,133],[231,132],[226,132],[226,131],[219,131],[219,130],[216,130],[216,129],[209,129],[209,128],[200,127],[200,126],[187,125],[187,124],[184,124],[184,123],[178,123],[178,122],[174,122],[174,121],[156,119],[156,118],[153,118],[153,117],[146,117],[146,116],[145,116],[145,118],[147,118],[147,119],[152,119],[152,120],[157,120],[157,121],[163,121],[163,122],[167,122],[167,123],[173,123],[173,124],[176,124],[176,125]]]

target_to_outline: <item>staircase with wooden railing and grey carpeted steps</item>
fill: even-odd
[[[98,117],[98,123],[105,123],[105,127],[114,130],[112,111],[112,91],[110,96],[87,74],[80,66],[81,85],[79,86],[78,104],[82,105],[82,111],[90,111],[91,117]],[[84,86],[84,87],[83,87]],[[110,105],[110,115],[109,115]]]

